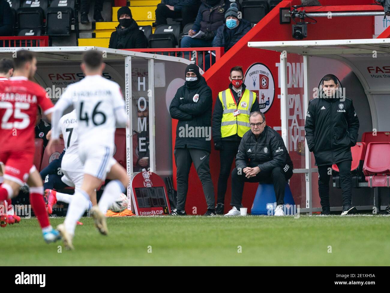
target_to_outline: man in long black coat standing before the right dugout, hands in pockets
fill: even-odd
[[[330,214],[329,180],[332,164],[340,170],[343,197],[341,215],[355,213],[352,206],[351,147],[358,139],[359,119],[351,99],[339,94],[337,77],[323,78],[323,94],[309,102],[305,121],[307,146],[318,166],[318,191],[322,214]]]

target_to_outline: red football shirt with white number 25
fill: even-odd
[[[34,153],[37,106],[44,114],[51,112],[53,103],[46,91],[24,76],[0,82],[0,151],[29,151]]]

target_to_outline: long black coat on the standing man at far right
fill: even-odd
[[[305,121],[306,141],[316,165],[352,160],[351,147],[358,139],[359,119],[351,99],[316,98],[309,102]]]

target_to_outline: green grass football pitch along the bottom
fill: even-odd
[[[51,218],[53,227],[64,218]],[[388,265],[390,217],[124,217],[100,235],[82,218],[75,250],[46,244],[35,218],[0,228],[2,263],[15,266]]]

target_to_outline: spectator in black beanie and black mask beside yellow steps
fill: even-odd
[[[133,20],[131,10],[127,6],[118,9],[119,25],[112,32],[108,48],[112,49],[142,49],[146,48],[146,37]]]

